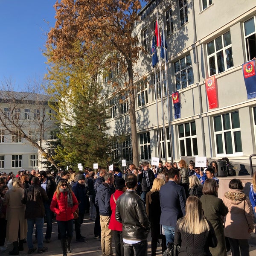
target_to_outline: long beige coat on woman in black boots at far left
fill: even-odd
[[[6,240],[14,242],[18,240],[20,225],[20,239],[26,238],[27,222],[25,219],[25,205],[21,204],[24,189],[18,187],[14,192],[9,189],[4,198],[4,204],[7,204],[6,211]]]

